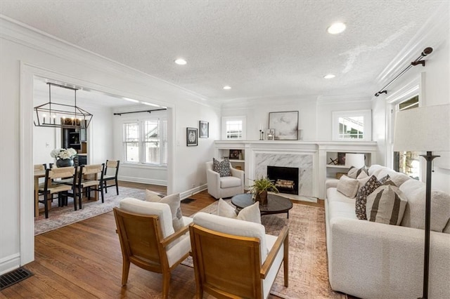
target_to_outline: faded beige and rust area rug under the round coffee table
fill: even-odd
[[[217,202],[202,210],[205,213],[216,211]],[[294,204],[289,219],[286,214],[263,215],[261,221],[266,233],[272,235],[278,235],[284,225],[289,225],[289,286],[284,286],[281,267],[271,288],[272,295],[286,299],[347,298],[345,294],[334,292],[328,283],[323,207]],[[192,267],[191,257],[183,264]]]

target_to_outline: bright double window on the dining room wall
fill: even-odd
[[[167,164],[167,120],[150,119],[123,124],[124,161]]]

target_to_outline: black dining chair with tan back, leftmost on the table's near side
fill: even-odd
[[[67,197],[74,198],[76,202],[75,181],[77,178],[76,167],[61,167],[61,168],[46,168],[45,180],[39,184],[39,194],[44,195],[44,199],[39,199],[41,204],[44,204],[45,218],[49,218],[49,201],[53,199],[53,194],[58,194],[58,206],[63,206],[67,202]],[[70,179],[72,184],[61,184],[56,180]],[[72,190],[72,193],[69,191]],[[75,204],[76,209],[76,204]]]

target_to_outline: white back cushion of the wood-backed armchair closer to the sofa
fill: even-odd
[[[242,237],[255,237],[260,241],[261,263],[264,263],[267,257],[266,230],[264,225],[244,220],[231,219],[198,212],[193,218],[193,223],[205,227],[209,230],[222,232],[224,234],[233,234]]]

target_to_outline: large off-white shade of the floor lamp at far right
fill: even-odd
[[[397,112],[394,152],[450,151],[450,105]]]

